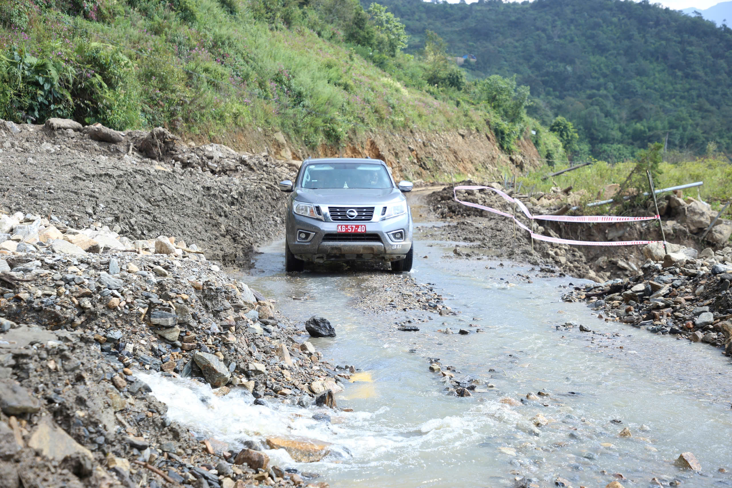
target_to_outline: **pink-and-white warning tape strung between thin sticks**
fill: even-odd
[[[547,241],[547,242],[556,242],[558,244],[570,244],[573,246],[636,246],[638,244],[651,244],[653,242],[661,242],[661,241],[575,241],[573,239],[559,239],[557,237],[551,237],[551,236],[544,236],[542,234],[537,234],[534,232],[531,232],[531,229],[526,227],[520,220],[518,220],[516,217],[514,217],[512,214],[507,214],[504,211],[492,209],[491,207],[487,207],[484,205],[479,205],[478,203],[472,203],[472,202],[466,202],[464,200],[460,200],[458,198],[458,189],[490,189],[493,192],[498,193],[498,195],[501,195],[501,197],[504,198],[507,202],[515,203],[519,209],[523,212],[524,215],[526,215],[527,218],[531,220],[553,220],[556,222],[638,222],[639,220],[656,220],[660,219],[660,216],[656,215],[654,217],[618,217],[615,215],[590,215],[590,216],[570,216],[570,215],[531,215],[529,212],[529,209],[526,208],[526,205],[521,202],[521,200],[518,200],[518,198],[512,198],[509,197],[504,192],[501,192],[500,189],[495,189],[491,187],[478,187],[478,186],[466,186],[461,185],[458,187],[455,187],[453,189],[453,195],[455,196],[455,201],[462,203],[465,206],[473,207],[474,209],[480,209],[492,212],[493,214],[502,215],[504,217],[508,217],[509,219],[513,219],[514,222],[516,222],[516,225],[518,225],[523,230],[526,230],[528,233],[531,234],[531,237],[534,239],[537,239],[537,241]]]

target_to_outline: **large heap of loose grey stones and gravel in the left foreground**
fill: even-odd
[[[175,239],[128,242],[108,228],[4,217],[3,244],[15,244],[0,250],[7,486],[51,486],[42,480],[52,478],[69,487],[308,483],[296,470],[262,464],[259,444],[187,432],[145,383],[155,372],[207,383],[218,395],[251,394],[262,408],[337,408],[333,393],[351,369],[324,361],[302,324],[277,318],[275,301]],[[293,452],[304,449],[293,442]]]

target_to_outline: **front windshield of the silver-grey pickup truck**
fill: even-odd
[[[382,165],[329,162],[307,165],[303,188],[392,188],[392,179]]]

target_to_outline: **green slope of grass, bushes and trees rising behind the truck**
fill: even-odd
[[[526,90],[466,83],[436,35],[402,52],[403,24],[357,0],[9,0],[0,5],[0,118],[218,138],[276,128],[310,147],[354,132],[493,130],[505,151],[533,129]]]

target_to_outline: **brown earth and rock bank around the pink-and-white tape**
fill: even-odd
[[[479,185],[474,181],[463,181],[460,184]],[[487,185],[501,189],[501,185],[497,183]],[[513,195],[512,190],[507,192]],[[490,190],[458,190],[458,198],[509,214],[515,212],[522,222],[531,226],[529,219],[523,217],[520,210],[513,209],[512,204]],[[518,195],[518,198],[526,204],[531,214],[546,215],[566,213],[569,207],[579,203],[580,195],[555,188],[548,194]],[[514,237],[514,225],[511,219],[464,206],[455,201],[452,187],[434,192],[428,201],[431,211],[438,217],[446,222],[455,222],[454,225],[436,228],[432,230],[433,233],[447,235],[452,241],[466,242],[468,243],[466,247],[474,247],[483,254],[488,252],[489,255],[496,257],[529,260],[534,264],[540,264],[543,260],[571,276],[592,279],[596,282],[641,274],[641,266],[646,260],[638,246],[570,246],[535,240],[532,252],[529,233],[516,228]],[[667,241],[699,251],[705,247],[711,247],[714,251],[727,245],[725,243],[728,242],[732,231],[732,222],[725,219],[717,221],[704,242],[698,239],[716,216],[716,212],[698,200],[684,199],[677,194],[665,195],[660,199],[660,213]],[[651,209],[641,210],[638,213],[639,216],[653,214],[655,211]],[[538,225],[539,222],[541,225]],[[654,220],[610,224],[537,221],[534,232],[578,241],[662,239],[658,222]],[[461,253],[465,254],[460,250],[456,252],[458,255]]]

